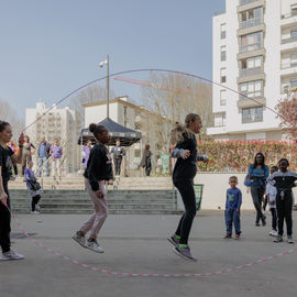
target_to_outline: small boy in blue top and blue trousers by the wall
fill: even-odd
[[[235,229],[235,239],[240,238],[240,208],[242,204],[242,194],[239,188],[237,188],[239,180],[237,176],[231,176],[229,178],[230,188],[227,190],[226,199],[226,210],[224,210],[224,221],[226,221],[226,239],[232,238],[232,226]]]

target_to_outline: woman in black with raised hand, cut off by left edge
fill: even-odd
[[[21,260],[24,256],[10,249],[10,199],[8,182],[10,179],[10,163],[22,163],[24,136],[19,139],[19,153],[15,155],[7,143],[12,138],[11,125],[8,122],[0,121],[0,245],[2,250],[1,261]]]

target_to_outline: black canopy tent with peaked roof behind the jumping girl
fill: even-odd
[[[116,141],[120,140],[121,146],[131,146],[133,143],[141,140],[141,132],[116,123],[109,118],[106,118],[98,124],[103,125],[109,130],[109,134],[111,136],[109,145],[116,145]],[[89,131],[89,129],[88,128],[81,129],[78,144],[85,144],[86,141],[88,140],[91,140],[95,143],[95,138],[92,133]]]

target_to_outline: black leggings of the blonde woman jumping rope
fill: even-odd
[[[175,234],[180,237],[179,243],[188,244],[189,232],[191,229],[193,220],[196,216],[196,197],[193,186],[193,179],[185,179],[183,182],[176,182],[174,185],[177,187],[182,195],[183,202],[185,205],[186,212],[179,220]]]

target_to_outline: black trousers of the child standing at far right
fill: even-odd
[[[287,235],[292,235],[292,207],[293,207],[293,197],[292,191],[287,191],[285,197],[282,198],[280,195],[276,196],[276,210],[277,210],[277,228],[278,235],[283,237],[284,234],[284,220],[286,220],[287,226]]]

